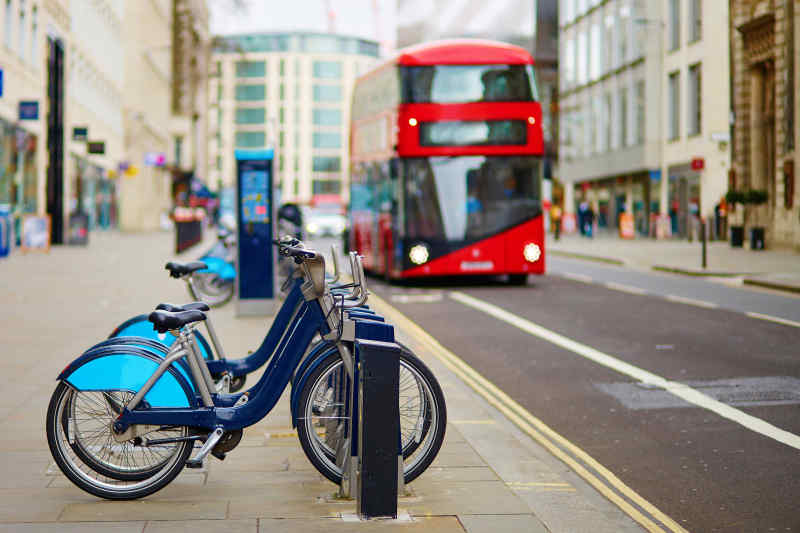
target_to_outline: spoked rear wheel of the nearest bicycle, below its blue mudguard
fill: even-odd
[[[142,498],[162,489],[171,482],[183,469],[186,459],[192,451],[191,441],[182,441],[162,448],[160,454],[154,454],[150,447],[133,450],[133,446],[125,447],[130,443],[117,443],[111,430],[111,424],[104,424],[100,420],[90,426],[95,417],[90,408],[76,406],[83,404],[84,399],[73,401],[73,394],[82,394],[61,382],[53,392],[50,405],[47,409],[46,431],[50,453],[53,455],[58,467],[67,478],[84,491],[109,500],[132,500]],[[94,399],[86,399],[85,405],[91,406]],[[95,408],[99,409],[95,405]],[[105,407],[102,407],[105,410]],[[80,418],[77,420],[77,413]],[[102,417],[97,417],[98,419]],[[81,426],[79,423],[84,424]],[[176,436],[188,436],[186,427],[174,428]],[[77,435],[84,432],[81,437]],[[96,437],[96,438],[95,438]],[[83,442],[76,452],[76,443]],[[93,444],[87,444],[92,442]],[[87,446],[89,446],[87,448]],[[94,450],[91,447],[97,449]],[[108,448],[112,448],[109,450]],[[86,451],[93,453],[87,455]],[[85,460],[88,457],[88,460]],[[135,460],[134,460],[135,459]],[[147,469],[149,475],[143,477]],[[109,476],[114,472],[115,476]],[[119,479],[124,474],[133,474],[133,479]],[[138,474],[138,475],[137,475]]]

